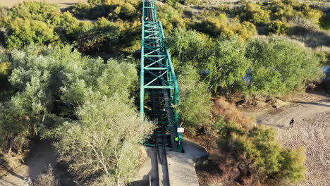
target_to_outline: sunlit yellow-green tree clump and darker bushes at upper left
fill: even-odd
[[[119,12],[134,11],[122,8]],[[118,17],[119,18],[119,17]],[[111,51],[118,47],[119,31],[123,24],[100,18],[96,23],[79,21],[69,12],[61,13],[58,6],[44,2],[23,2],[13,6],[4,18],[0,42],[8,49],[21,49],[28,44],[70,43],[85,53]],[[118,26],[117,26],[118,25]],[[136,25],[126,25],[126,28]],[[131,28],[132,28],[131,27]],[[2,40],[2,41],[1,41]],[[120,42],[123,42],[121,39]]]

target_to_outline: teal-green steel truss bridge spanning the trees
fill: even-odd
[[[183,151],[178,113],[171,107],[179,101],[178,81],[164,39],[154,0],[143,0],[140,113],[142,122],[144,116],[157,121],[157,129],[145,145],[164,149],[163,160],[166,149]]]

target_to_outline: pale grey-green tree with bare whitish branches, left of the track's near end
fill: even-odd
[[[140,144],[152,125],[140,125],[135,109],[117,97],[87,101],[78,118],[56,130],[55,146],[70,163],[69,171],[82,179],[104,175],[106,185],[125,185],[140,163]]]

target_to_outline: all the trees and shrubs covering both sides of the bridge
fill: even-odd
[[[187,135],[202,134],[239,164],[235,179],[224,179],[228,185],[303,180],[303,149],[282,148],[273,130],[253,127],[224,99],[210,100],[271,100],[320,82],[330,56],[329,17],[290,0],[188,7],[201,3],[157,2]],[[4,166],[30,141],[48,139],[80,182],[130,182],[153,126],[138,117],[139,61],[132,55],[140,49],[141,8],[138,0],[89,0],[65,11],[44,2],[0,7]]]

